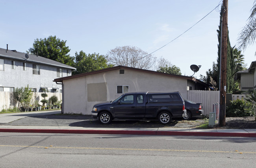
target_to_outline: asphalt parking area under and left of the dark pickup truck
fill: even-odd
[[[178,123],[182,120],[176,118],[168,125],[162,125],[158,120],[113,120],[108,125],[103,125],[98,122],[97,119],[92,118],[90,115],[64,115],[60,114],[60,111],[48,113],[36,113],[36,114],[22,114],[17,113],[15,120],[4,121],[0,125],[12,125],[12,126],[71,126],[71,127],[192,127],[187,123]],[[11,114],[10,114],[11,115]],[[197,119],[197,118],[195,118]],[[6,120],[6,119],[2,119]],[[200,123],[198,123],[200,125]]]

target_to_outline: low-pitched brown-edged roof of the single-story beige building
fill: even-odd
[[[152,71],[152,70],[132,68],[132,67],[121,66],[121,65],[114,66],[114,67],[111,67],[111,68],[96,70],[96,71],[92,71],[92,72],[86,72],[86,73],[82,73],[82,74],[66,76],[66,77],[63,77],[63,78],[57,78],[57,79],[54,79],[54,82],[62,82],[64,80],[68,80],[68,79],[80,78],[80,77],[83,77],[83,76],[89,76],[89,75],[99,74],[99,73],[103,73],[103,72],[109,72],[111,70],[118,70],[118,69],[128,69],[128,70],[135,70],[135,71],[139,71],[139,72],[158,74],[158,75],[162,75],[162,76],[169,76],[169,77],[174,77],[174,78],[182,78],[182,79],[187,79],[187,80],[195,81],[195,82],[198,82],[198,83],[200,83],[202,85],[208,86],[207,83],[204,83],[204,82],[202,82],[202,81],[200,81],[200,80],[198,80],[198,79],[196,79],[194,77],[191,77],[191,76],[174,75],[174,74],[168,74],[168,73],[164,73],[164,72],[156,72],[156,71]]]

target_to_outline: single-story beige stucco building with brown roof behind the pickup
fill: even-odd
[[[126,92],[208,90],[208,85],[190,76],[167,74],[127,66],[54,79],[62,84],[63,113],[91,114],[93,105],[110,101]]]

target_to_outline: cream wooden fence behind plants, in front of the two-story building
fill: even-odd
[[[40,101],[44,98],[41,96],[41,92],[33,92],[31,105],[35,103],[37,100],[40,105],[43,105]],[[46,100],[48,100],[52,96],[57,96],[58,101],[62,100],[62,93],[46,93],[48,96],[46,97]],[[12,92],[0,92],[0,111],[2,109],[9,109],[17,106],[16,102],[12,98]]]

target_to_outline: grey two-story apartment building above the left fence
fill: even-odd
[[[53,80],[71,76],[75,69],[38,55],[0,48],[0,91],[13,91],[28,85],[33,92],[41,92],[44,88],[61,93],[62,86]]]

